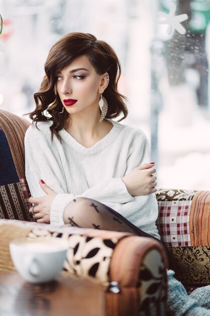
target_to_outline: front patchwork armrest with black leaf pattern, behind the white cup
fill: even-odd
[[[95,278],[104,285],[107,316],[113,315],[113,310],[117,311],[115,315],[134,316],[140,310],[148,310],[148,305],[166,309],[167,259],[164,247],[155,239],[113,231],[0,220],[1,270],[15,270],[9,242],[24,236],[68,239],[64,270],[69,277],[74,274]]]

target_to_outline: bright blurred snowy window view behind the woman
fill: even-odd
[[[128,97],[122,123],[151,142],[158,187],[210,190],[210,0],[0,0],[0,109],[23,117],[68,32],[107,41]]]

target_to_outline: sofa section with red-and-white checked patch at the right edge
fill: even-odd
[[[185,287],[210,284],[210,192],[157,191],[157,226],[171,251],[171,269]]]

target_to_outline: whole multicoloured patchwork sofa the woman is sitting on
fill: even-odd
[[[152,238],[36,223],[28,212],[30,192],[24,166],[24,135],[29,125],[26,120],[0,110],[1,275],[16,271],[9,251],[11,240],[26,236],[57,237],[69,243],[63,271],[69,280],[88,279],[91,287],[96,283],[103,286],[107,316],[167,315],[169,264],[188,292],[209,284],[210,192],[157,191],[157,226],[162,242],[171,252],[170,262],[165,248]]]

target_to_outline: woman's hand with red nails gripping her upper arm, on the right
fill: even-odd
[[[130,195],[147,195],[157,191],[155,163],[144,164],[130,171],[122,178]]]

